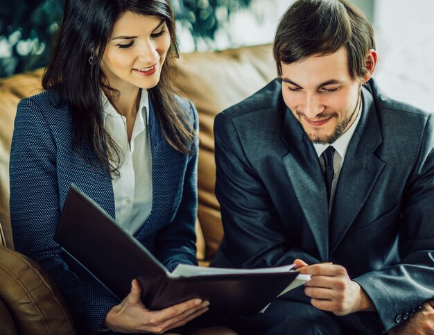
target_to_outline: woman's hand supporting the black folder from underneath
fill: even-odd
[[[209,302],[192,299],[161,311],[150,311],[141,302],[141,288],[137,280],[131,283],[131,292],[107,313],[103,327],[121,333],[162,334],[185,325],[208,310]]]

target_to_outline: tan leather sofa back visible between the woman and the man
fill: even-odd
[[[187,53],[177,62],[175,85],[196,105],[200,119],[198,217],[211,260],[223,238],[220,207],[214,194],[214,117],[276,77],[271,45]]]

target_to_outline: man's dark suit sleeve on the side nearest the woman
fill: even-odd
[[[318,259],[299,248],[288,248],[287,232],[243,151],[232,119],[225,112],[216,117],[214,136],[216,196],[225,237],[213,265],[261,268],[292,264],[297,258],[318,263]]]

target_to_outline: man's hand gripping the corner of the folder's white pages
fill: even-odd
[[[304,284],[304,293],[311,298],[314,307],[338,316],[375,311],[369,296],[349,278],[343,266],[331,263],[308,266],[301,259],[296,259],[294,264],[300,273],[311,275],[311,280]]]

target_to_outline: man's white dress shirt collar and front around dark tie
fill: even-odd
[[[334,169],[334,175],[333,175],[333,181],[331,182],[331,194],[330,194],[330,204],[329,204],[329,214],[331,213],[331,209],[333,208],[333,200],[335,196],[335,190],[336,190],[336,184],[338,184],[338,179],[340,175],[340,169],[342,169],[342,164],[344,164],[345,154],[347,153],[347,149],[349,146],[349,141],[351,141],[351,137],[353,137],[354,131],[356,130],[356,127],[358,125],[358,121],[360,121],[361,114],[362,114],[362,102],[359,105],[357,117],[354,120],[353,124],[348,128],[346,132],[344,132],[336,141],[334,141],[332,144],[318,144],[314,143],[313,146],[315,147],[316,154],[318,155],[318,158],[320,159],[320,164],[322,167],[322,172],[324,172],[325,166],[324,166],[324,159],[322,158],[322,153],[329,148],[329,146],[333,146],[335,148],[336,152],[333,156],[333,169]]]

